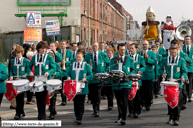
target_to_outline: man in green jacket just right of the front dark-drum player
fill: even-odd
[[[137,74],[142,75],[145,71],[146,65],[144,58],[137,54],[137,46],[136,44],[132,43],[130,44],[130,57],[133,58],[133,63],[135,66],[135,70]],[[138,82],[139,86],[142,86],[141,81]],[[138,118],[138,114],[141,113],[141,98],[140,98],[140,87],[137,90],[136,96],[133,100],[128,100],[128,109],[129,109],[129,115],[128,117],[131,117],[132,114],[134,118]]]

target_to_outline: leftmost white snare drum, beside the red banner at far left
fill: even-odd
[[[13,82],[13,88],[17,91],[29,91],[29,80],[28,79],[20,79]]]

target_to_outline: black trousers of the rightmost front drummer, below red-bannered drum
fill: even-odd
[[[171,108],[168,105],[168,111],[170,115],[170,119],[179,121],[180,112],[182,107],[182,89],[179,89],[179,99],[178,99],[178,105],[175,108]]]

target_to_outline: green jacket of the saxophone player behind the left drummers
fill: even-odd
[[[62,49],[58,50],[58,53],[60,53],[62,55]],[[69,49],[66,49],[66,58],[65,58],[65,61],[66,61],[66,65],[65,65],[66,71],[62,72],[62,77],[66,77],[67,76],[72,59],[73,59],[72,51],[69,50]],[[61,64],[61,68],[62,67],[63,67],[63,65]]]

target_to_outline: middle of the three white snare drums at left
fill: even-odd
[[[29,84],[31,92],[42,92],[44,91],[44,84],[42,81],[34,81]]]

